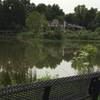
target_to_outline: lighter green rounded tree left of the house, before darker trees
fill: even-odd
[[[46,24],[46,19],[40,13],[33,11],[26,19],[26,26],[33,32],[39,32]]]

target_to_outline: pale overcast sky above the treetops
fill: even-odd
[[[61,9],[65,13],[73,12],[74,7],[76,7],[79,4],[85,4],[87,8],[98,8],[100,10],[100,0],[31,0],[31,2],[34,2],[36,5],[39,3],[45,3],[48,4],[58,4]]]

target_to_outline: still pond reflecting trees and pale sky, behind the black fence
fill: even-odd
[[[100,43],[1,41],[0,88],[100,70]]]

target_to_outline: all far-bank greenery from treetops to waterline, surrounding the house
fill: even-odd
[[[82,26],[81,31],[55,27],[49,24],[57,19],[62,25],[64,20],[73,25]],[[37,34],[48,39],[100,39],[100,11],[96,8],[86,8],[78,5],[74,13],[65,14],[59,5],[45,5],[30,3],[30,0],[0,1],[0,31],[24,31],[25,34]],[[34,36],[33,36],[34,37]]]

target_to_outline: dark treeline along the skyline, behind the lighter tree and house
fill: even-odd
[[[56,4],[36,6],[30,0],[3,0],[0,1],[0,30],[25,30],[26,19],[33,11],[45,16],[48,22],[58,19],[90,30],[100,27],[100,12],[96,8],[87,9],[85,5],[79,5],[74,13],[65,14]]]

